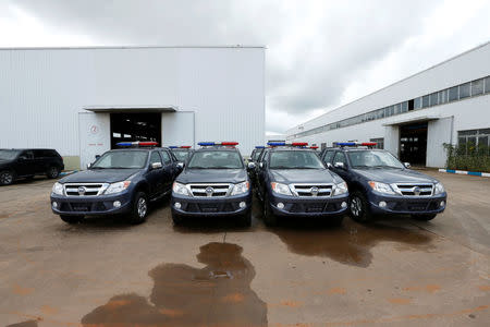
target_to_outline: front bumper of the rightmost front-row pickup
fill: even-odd
[[[446,193],[432,196],[401,196],[371,193],[368,197],[372,214],[430,215],[444,211],[448,202]],[[380,202],[387,203],[385,207]],[[441,206],[441,203],[444,203]]]

